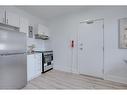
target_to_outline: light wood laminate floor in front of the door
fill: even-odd
[[[28,82],[24,89],[127,89],[127,85],[51,70]]]

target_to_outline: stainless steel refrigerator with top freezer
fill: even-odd
[[[26,34],[0,24],[0,89],[20,89],[26,84]]]

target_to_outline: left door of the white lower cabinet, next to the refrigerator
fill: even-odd
[[[35,59],[34,54],[27,56],[27,81],[30,81],[35,76]]]

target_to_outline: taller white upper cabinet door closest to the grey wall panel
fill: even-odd
[[[20,17],[20,32],[24,32],[28,36],[29,21],[26,18]]]

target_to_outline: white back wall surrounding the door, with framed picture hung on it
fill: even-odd
[[[73,63],[73,72],[78,72],[77,45],[72,53],[70,40],[77,41],[80,21],[104,18],[105,79],[127,83],[127,63],[124,62],[127,60],[127,49],[118,48],[118,19],[127,17],[126,11],[127,7],[93,7],[87,11],[63,15],[49,21],[52,30],[54,67],[70,72]]]

